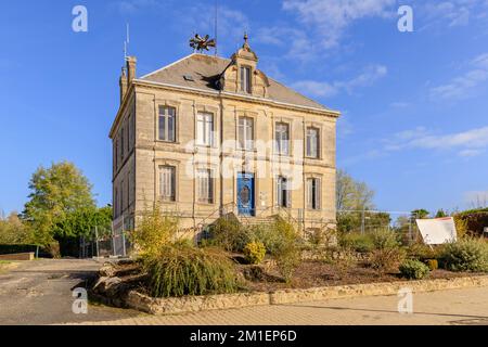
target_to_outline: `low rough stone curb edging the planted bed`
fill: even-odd
[[[413,293],[488,286],[488,275],[454,279],[382,282],[368,284],[316,287],[309,290],[284,290],[273,293],[243,293],[181,298],[152,298],[136,291],[128,293],[125,306],[151,314],[177,314],[206,310],[243,308],[251,306],[297,304],[326,299],[361,296],[397,295],[403,287]]]

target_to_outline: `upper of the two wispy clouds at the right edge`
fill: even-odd
[[[451,81],[431,88],[434,100],[462,100],[473,97],[477,87],[488,80],[488,53],[481,54],[470,63],[471,69]]]

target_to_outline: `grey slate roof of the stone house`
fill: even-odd
[[[162,69],[145,75],[140,80],[217,91],[217,80],[231,63],[230,60],[205,54],[191,54]],[[193,80],[187,80],[191,75]],[[269,99],[275,102],[329,111],[325,106],[269,78]]]

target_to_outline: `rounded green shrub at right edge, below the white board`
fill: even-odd
[[[488,271],[488,245],[483,240],[462,239],[441,248],[439,259],[450,271]]]

